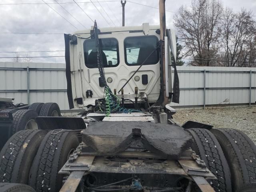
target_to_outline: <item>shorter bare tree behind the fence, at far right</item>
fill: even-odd
[[[234,13],[226,8],[221,21],[221,43],[226,52],[225,66],[245,66],[255,50],[255,21],[252,12],[242,9]]]

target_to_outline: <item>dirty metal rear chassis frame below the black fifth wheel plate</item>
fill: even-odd
[[[124,190],[134,187],[134,190],[138,190],[140,188],[136,187],[134,182],[132,184],[132,181],[138,180],[144,191],[154,191],[163,186],[166,190],[168,188],[169,190],[170,188],[181,190],[184,186],[177,186],[177,184],[179,180],[183,179],[187,181],[187,184],[194,181],[202,192],[214,192],[206,179],[216,179],[216,177],[191,149],[185,150],[178,160],[164,160],[157,154],[137,151],[124,151],[116,156],[106,158],[96,156],[95,153],[83,152],[84,148],[86,149],[88,146],[80,144],[61,168],[60,174],[70,174],[62,186],[61,192],[75,192],[77,188],[81,187],[86,190],[84,189],[84,180],[88,181],[91,173],[94,178],[97,177],[98,182],[102,182],[102,185],[111,180],[116,183],[122,181],[123,178],[130,178],[126,184],[121,182],[124,184],[122,186],[112,184],[111,187],[115,189],[123,188]],[[106,177],[108,177],[108,182],[106,182]],[[154,186],[152,186],[152,181],[154,181]],[[88,184],[88,182],[86,183]],[[93,190],[91,186],[86,187],[88,187],[87,190]],[[191,187],[191,184],[186,187]],[[99,189],[96,186],[94,188]]]

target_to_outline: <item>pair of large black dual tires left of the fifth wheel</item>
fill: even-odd
[[[59,191],[65,175],[58,172],[78,144],[75,132],[19,131],[0,152],[0,182],[28,184],[37,192]],[[30,189],[24,191],[32,191]],[[4,191],[1,184],[0,191]]]

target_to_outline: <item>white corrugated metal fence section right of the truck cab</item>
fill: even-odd
[[[256,68],[180,66],[179,107],[245,105],[256,102]]]

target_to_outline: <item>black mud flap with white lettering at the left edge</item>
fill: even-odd
[[[2,150],[6,141],[12,136],[12,113],[0,112],[0,150]]]

